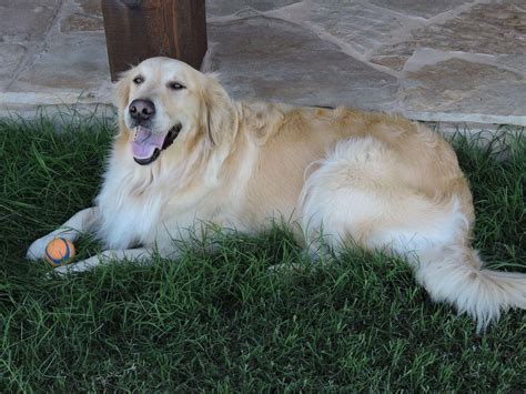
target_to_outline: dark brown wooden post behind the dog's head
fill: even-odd
[[[199,69],[206,52],[204,0],[102,0],[111,79],[164,55]]]

